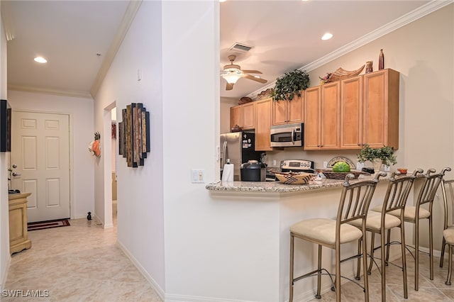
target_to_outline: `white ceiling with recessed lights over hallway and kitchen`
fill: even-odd
[[[438,3],[438,4],[435,4]],[[277,77],[305,67],[345,45],[357,45],[377,28],[402,23],[437,9],[441,1],[244,1],[228,0],[221,10],[221,66],[234,43],[253,46],[236,54],[242,69],[258,69],[267,84],[239,79],[221,96],[240,98]],[[140,1],[135,3],[137,9]],[[30,91],[89,96],[114,57],[128,28],[129,1],[1,1],[8,42],[8,85]],[[418,11],[415,11],[418,10]],[[402,17],[404,16],[404,17]],[[399,21],[400,20],[400,21]],[[123,33],[121,33],[123,30]],[[322,41],[323,33],[333,38]],[[359,39],[359,40],[358,40]],[[97,55],[99,54],[99,55]],[[48,59],[39,65],[33,57]]]

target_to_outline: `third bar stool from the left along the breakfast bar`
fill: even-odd
[[[450,171],[450,167],[445,167],[438,174],[435,169],[428,169],[426,174],[423,174],[423,184],[419,190],[418,198],[416,199],[415,206],[406,206],[404,210],[404,220],[408,223],[414,223],[414,289],[419,290],[419,221],[422,219],[428,220],[428,236],[429,236],[429,251],[428,256],[430,259],[430,273],[429,278],[433,280],[433,200],[436,191],[440,185],[445,172]],[[426,204],[428,208],[421,206]],[[399,217],[401,211],[391,211],[389,214]],[[408,245],[406,245],[408,247]]]

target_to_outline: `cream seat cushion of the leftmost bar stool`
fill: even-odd
[[[290,227],[290,232],[296,236],[315,240],[316,242],[334,245],[336,242],[336,220],[327,218],[313,218],[302,220]],[[341,225],[341,243],[352,242],[362,237],[362,232],[353,225]]]

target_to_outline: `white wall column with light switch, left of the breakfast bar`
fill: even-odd
[[[217,175],[218,22],[218,1],[162,1],[166,301],[239,298],[222,286],[238,274],[223,269],[234,261],[221,248],[226,229],[215,223],[225,213],[190,177],[191,169],[204,169],[207,182]],[[184,79],[177,87],[175,76]]]

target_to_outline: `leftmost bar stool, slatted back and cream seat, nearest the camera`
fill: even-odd
[[[328,218],[313,218],[302,220],[290,227],[290,294],[289,302],[293,301],[293,286],[296,281],[308,276],[317,276],[317,293],[316,298],[321,298],[321,252],[322,247],[328,247],[336,252],[336,301],[341,301],[341,245],[343,243],[355,242],[362,238],[365,240],[365,218],[369,209],[370,201],[377,186],[380,176],[386,176],[383,172],[377,173],[375,179],[358,181],[350,184],[350,179],[353,179],[353,174],[348,174],[343,182],[341,199],[338,206],[338,214],[336,219]],[[350,225],[352,220],[360,220],[361,229]],[[294,276],[294,238],[306,240],[319,245],[317,269],[313,272]],[[365,241],[364,241],[365,242]],[[366,247],[363,247],[362,255],[364,267],[367,267],[367,259],[365,257]],[[328,271],[326,271],[328,272]],[[329,274],[329,273],[328,273]],[[331,274],[330,274],[331,276]],[[369,301],[369,287],[367,283],[367,274],[364,276],[364,297],[365,301]]]

